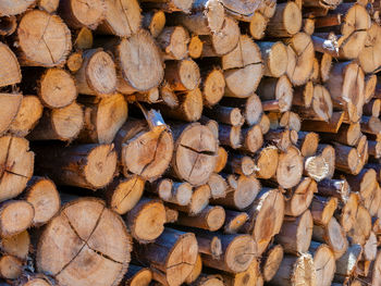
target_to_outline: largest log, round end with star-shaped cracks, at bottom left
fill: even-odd
[[[57,229],[61,229],[60,235]],[[113,235],[107,235],[110,233]],[[56,249],[54,257],[51,249]],[[60,284],[112,285],[126,272],[131,250],[123,220],[103,201],[81,198],[67,202],[44,229],[36,264],[38,272],[51,273]]]

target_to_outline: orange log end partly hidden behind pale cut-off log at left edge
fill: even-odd
[[[8,103],[7,109],[12,110],[12,104]],[[44,107],[38,97],[23,96],[17,114],[9,126],[10,133],[20,137],[26,136],[42,116],[42,110]],[[1,114],[7,114],[7,112],[2,112]],[[7,120],[2,120],[1,122],[7,122]]]

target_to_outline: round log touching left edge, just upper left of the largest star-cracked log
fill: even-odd
[[[0,237],[12,237],[32,226],[35,210],[25,200],[9,200],[0,206]]]

